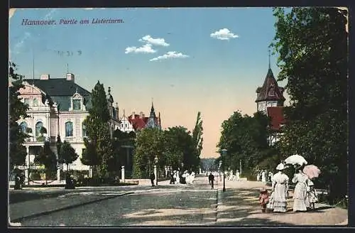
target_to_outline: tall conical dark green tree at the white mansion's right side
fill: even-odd
[[[110,116],[106,92],[104,85],[99,81],[92,90],[91,102],[92,107],[89,109],[89,115],[83,123],[86,126],[89,139],[84,140],[86,149],[83,153],[82,163],[92,166],[93,175],[107,177],[109,163],[114,159],[114,151],[110,138]]]

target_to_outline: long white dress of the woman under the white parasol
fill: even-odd
[[[304,173],[297,173],[292,179],[293,183],[297,183],[293,192],[293,211],[307,210],[307,180],[308,177]]]

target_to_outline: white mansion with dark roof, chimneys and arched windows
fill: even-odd
[[[18,120],[22,131],[29,132],[30,137],[25,141],[26,147],[26,180],[28,181],[28,168],[34,163],[40,148],[45,141],[50,143],[52,151],[58,155],[55,142],[58,135],[61,141],[68,141],[79,155],[76,161],[70,164],[70,170],[89,170],[89,166],[81,163],[82,151],[85,148],[84,138],[87,136],[83,124],[91,107],[90,92],[75,83],[75,75],[68,73],[65,78],[50,78],[50,75],[41,75],[40,79],[23,80],[24,87],[19,90],[19,97],[28,104],[26,119]],[[118,107],[113,107],[113,98],[109,89],[107,99],[111,114],[110,129],[119,128]],[[28,131],[28,128],[31,129]],[[111,132],[112,132],[111,131]],[[60,179],[58,166],[58,179]]]

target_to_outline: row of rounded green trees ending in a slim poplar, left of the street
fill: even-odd
[[[200,166],[202,150],[202,119],[197,113],[195,128],[188,131],[184,126],[170,127],[167,130],[143,129],[136,138],[136,151],[133,156],[133,177],[148,177],[149,170],[155,164],[163,170],[165,166],[173,170],[191,170],[197,172]]]

